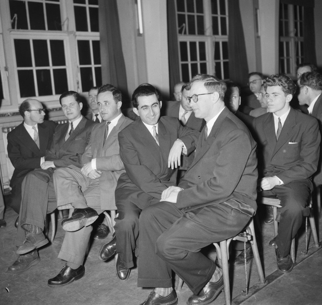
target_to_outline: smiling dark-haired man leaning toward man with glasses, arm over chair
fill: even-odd
[[[142,209],[158,202],[168,186],[176,185],[176,167],[180,165],[183,147],[187,154],[191,153],[199,136],[198,131],[182,126],[176,118],[160,118],[162,101],[153,86],[139,86],[133,92],[132,103],[140,119],[118,134],[126,173],[119,177],[115,190],[115,237],[99,252],[102,260],[118,253],[116,268],[120,280],[128,278],[134,265]]]

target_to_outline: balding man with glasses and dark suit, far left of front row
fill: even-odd
[[[45,121],[43,105],[34,99],[24,100],[19,113],[24,121],[7,135],[8,157],[14,166],[10,180],[11,207],[19,214],[21,184],[24,177],[45,161],[46,149],[50,148],[56,128],[53,121]]]

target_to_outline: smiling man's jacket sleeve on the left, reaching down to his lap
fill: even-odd
[[[120,158],[130,180],[143,192],[161,199],[161,194],[167,186],[161,183],[148,167],[140,163],[136,148],[123,132],[118,133],[118,142]]]

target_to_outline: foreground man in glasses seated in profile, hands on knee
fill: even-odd
[[[190,85],[188,101],[206,125],[179,185],[140,215],[138,286],[156,287],[141,305],[177,304],[172,270],[193,292],[188,305],[213,302],[222,270],[200,249],[238,234],[257,208],[256,142],[225,107],[225,82],[202,74]]]

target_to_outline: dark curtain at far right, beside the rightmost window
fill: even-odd
[[[304,7],[304,62],[317,65],[315,52],[314,8]]]

